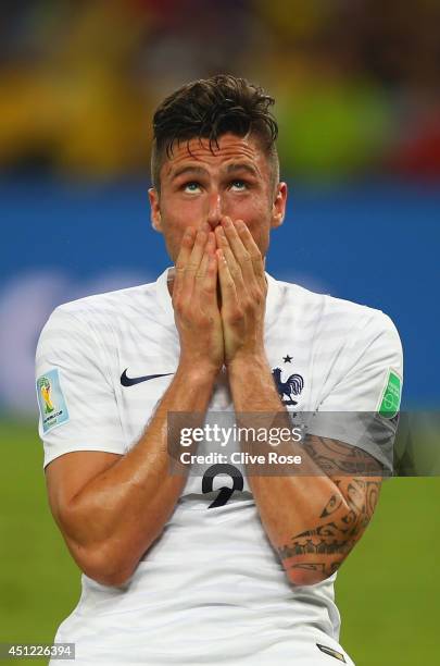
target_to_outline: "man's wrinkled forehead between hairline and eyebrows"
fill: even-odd
[[[218,138],[218,146],[209,139],[192,138],[173,146],[173,155],[166,159],[161,169],[161,176],[173,177],[173,174],[186,164],[202,166],[208,170],[227,166],[228,163],[249,164],[262,175],[267,175],[267,158],[260,143],[252,136],[239,137],[224,134]]]

